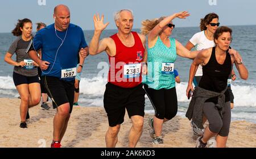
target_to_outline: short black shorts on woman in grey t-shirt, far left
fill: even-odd
[[[30,83],[39,83],[39,77],[36,76],[23,76],[21,74],[18,74],[16,72],[13,72],[13,82],[15,86],[22,85],[22,84],[30,84]]]

